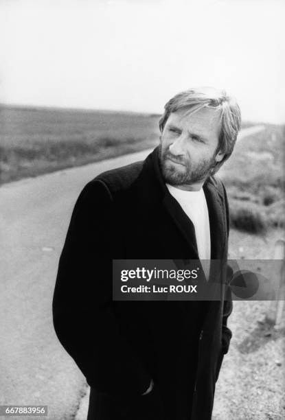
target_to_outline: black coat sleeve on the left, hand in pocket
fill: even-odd
[[[101,180],[87,184],[76,202],[58,265],[54,329],[90,386],[109,395],[140,395],[151,377],[113,311],[113,207]]]

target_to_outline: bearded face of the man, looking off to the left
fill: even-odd
[[[189,111],[188,111],[189,112]],[[171,113],[159,145],[161,171],[166,183],[181,189],[203,181],[224,154],[216,154],[219,117],[213,108],[193,114],[185,110]]]

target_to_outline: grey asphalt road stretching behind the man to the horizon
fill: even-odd
[[[262,129],[243,130],[240,138]],[[47,419],[76,415],[86,384],[52,326],[56,270],[71,211],[89,180],[149,152],[0,187],[0,405],[47,405]]]

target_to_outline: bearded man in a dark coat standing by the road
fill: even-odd
[[[113,259],[227,259],[227,196],[214,174],[233,151],[238,104],[191,89],[166,104],[159,126],[145,161],[84,187],[60,257],[54,327],[91,386],[88,420],[211,419],[229,349],[231,296],[112,299]]]

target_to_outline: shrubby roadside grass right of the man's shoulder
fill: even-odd
[[[285,127],[266,124],[263,131],[236,144],[223,166],[231,225],[250,233],[285,226]]]

